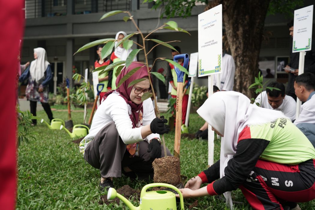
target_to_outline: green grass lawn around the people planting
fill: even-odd
[[[67,120],[66,106],[52,107],[55,118]],[[79,109],[77,109],[79,110]],[[90,110],[88,110],[90,111]],[[49,122],[44,111],[37,115]],[[89,113],[88,113],[89,117]],[[88,118],[89,119],[89,118]],[[87,119],[87,120],[88,120]],[[72,112],[74,124],[83,123],[83,112]],[[190,115],[190,133],[196,133],[203,125],[198,114]],[[28,144],[22,142],[18,149],[18,192],[16,209],[128,209],[120,202],[119,205],[99,205],[103,195],[98,185],[100,173],[98,169],[85,163],[79,153],[78,145],[72,143],[70,136],[64,130],[50,130],[38,121],[32,128],[37,131],[37,140]],[[174,150],[174,132],[165,134],[166,145]],[[220,141],[215,140],[214,159],[220,156]],[[181,140],[180,150],[181,173],[188,178],[196,176],[208,165],[208,142],[197,139]],[[114,179],[116,188],[129,184],[134,189],[141,189],[147,182],[132,181],[122,177]],[[233,201],[238,201],[234,209],[251,209],[240,190],[232,192]],[[131,197],[134,205],[139,205],[139,198]],[[185,199],[185,209],[188,209],[197,199]],[[300,204],[302,209],[314,209],[315,200]],[[195,209],[225,209],[225,202],[214,196],[198,198]]]

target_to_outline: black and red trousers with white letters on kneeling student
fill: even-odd
[[[239,188],[258,210],[282,210],[288,201],[311,201],[315,198],[315,160],[287,165],[260,159]]]

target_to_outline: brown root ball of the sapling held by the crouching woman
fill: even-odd
[[[154,182],[167,183],[176,186],[180,183],[180,160],[177,157],[167,156],[157,158],[152,163]]]

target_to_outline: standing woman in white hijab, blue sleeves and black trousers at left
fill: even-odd
[[[47,61],[46,50],[44,48],[34,48],[34,59],[31,65],[22,73],[19,80],[23,82],[28,79],[26,98],[30,101],[33,116],[36,116],[37,101],[40,101],[51,121],[54,118],[48,104],[48,84],[52,79],[52,72]],[[32,120],[32,122],[33,125],[37,124],[36,120]]]

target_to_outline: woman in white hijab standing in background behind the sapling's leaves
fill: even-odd
[[[115,39],[117,40],[115,42],[115,51],[111,55],[111,60],[113,63],[121,61],[121,60],[127,60],[129,54],[131,53],[132,49],[129,48],[126,50],[123,48],[123,44],[120,44],[118,47],[118,42],[120,42],[125,36],[127,36],[126,32],[124,31],[119,31],[116,34]],[[133,61],[137,61],[137,57],[134,58]],[[116,70],[118,66],[113,69],[113,71],[110,71],[108,74],[108,84],[112,84],[112,89],[116,89]]]

